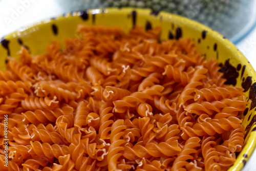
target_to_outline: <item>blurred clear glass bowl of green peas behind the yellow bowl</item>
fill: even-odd
[[[150,8],[178,14],[218,31],[232,42],[243,38],[256,23],[255,0],[57,0],[66,11],[101,7]]]

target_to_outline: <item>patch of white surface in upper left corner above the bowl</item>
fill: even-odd
[[[62,13],[53,0],[0,0],[0,37]]]

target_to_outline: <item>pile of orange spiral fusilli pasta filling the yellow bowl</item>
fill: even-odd
[[[189,38],[79,25],[0,72],[1,170],[226,170],[244,143],[242,88]],[[8,115],[8,167],[4,166]]]

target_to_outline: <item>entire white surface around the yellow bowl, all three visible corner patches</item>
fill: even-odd
[[[54,0],[0,0],[0,37],[22,26],[61,15],[64,12]],[[256,27],[237,44],[237,47],[256,70]],[[256,151],[243,171],[256,171],[255,161]]]

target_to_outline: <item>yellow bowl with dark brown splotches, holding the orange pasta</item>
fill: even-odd
[[[245,145],[236,162],[228,170],[241,170],[256,145],[256,74],[243,54],[225,37],[193,20],[147,9],[107,8],[71,12],[24,27],[4,37],[0,46],[0,69],[5,70],[8,56],[17,57],[21,46],[29,48],[33,55],[46,52],[46,44],[52,39],[63,42],[64,37],[76,36],[78,24],[122,26],[129,31],[134,25],[145,28],[161,26],[161,39],[190,37],[198,50],[206,57],[214,57],[222,65],[227,83],[245,89],[246,100],[251,102],[244,112],[243,125],[246,129]]]

